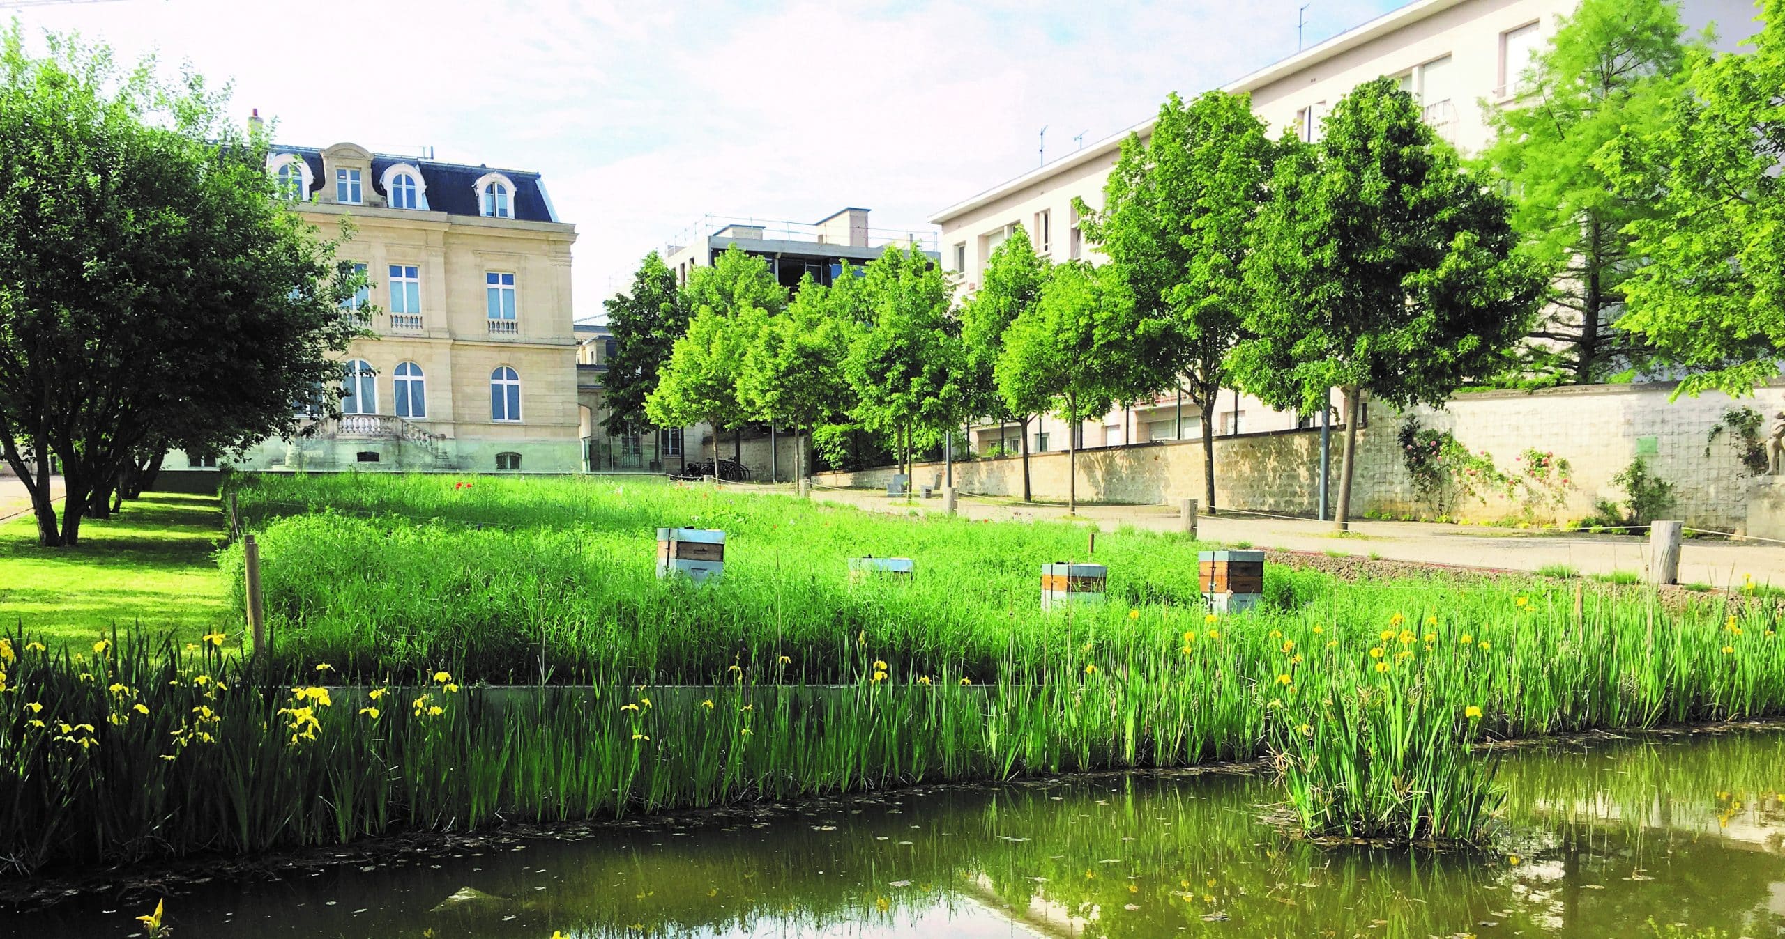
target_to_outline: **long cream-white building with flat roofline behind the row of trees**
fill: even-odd
[[[1385,16],[1342,32],[1289,59],[1223,86],[1251,94],[1253,110],[1280,134],[1314,139],[1326,110],[1362,82],[1391,75],[1421,103],[1432,128],[1464,153],[1482,150],[1490,137],[1485,109],[1508,103],[1532,53],[1555,34],[1558,18],[1576,0],[1416,0]],[[1751,36],[1756,7],[1751,0],[1681,0],[1692,32],[1715,23],[1719,48],[1733,50]],[[1187,89],[1185,94],[1194,94]],[[1164,98],[1166,89],[1160,89]],[[1028,232],[1035,249],[1055,260],[1098,260],[1085,244],[1073,200],[1103,205],[1103,182],[1116,166],[1128,134],[1142,139],[1151,119],[1060,157],[1039,169],[962,200],[930,217],[942,230],[942,262],[967,292],[978,287],[991,253],[1016,230]],[[1337,401],[1335,401],[1337,406]],[[1087,447],[1146,440],[1196,438],[1307,426],[1308,419],[1276,412],[1250,396],[1223,392],[1203,415],[1178,396],[1112,412],[1078,428]],[[1050,428],[1048,424],[1055,424]],[[1003,444],[1016,449],[1012,428],[975,428],[975,449]],[[1030,449],[1066,449],[1057,419],[1044,421]]]

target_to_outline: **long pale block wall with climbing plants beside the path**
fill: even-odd
[[[1573,465],[1565,504],[1555,520],[1582,518],[1596,499],[1623,499],[1612,478],[1646,453],[1649,469],[1674,483],[1674,511],[1692,527],[1737,531],[1746,524],[1753,478],[1742,469],[1724,433],[1706,440],[1710,428],[1731,406],[1749,406],[1765,415],[1785,408],[1785,383],[1762,388],[1753,399],[1731,401],[1721,394],[1669,403],[1673,385],[1594,385],[1544,392],[1489,392],[1462,396],[1444,410],[1416,408],[1421,424],[1449,429],[1471,451],[1487,451],[1501,472],[1519,469],[1517,456],[1535,447]],[[1401,460],[1398,433],[1405,415],[1383,404],[1371,406],[1371,421],[1358,431],[1358,465],[1353,478],[1353,513],[1430,515]],[[1333,481],[1337,483],[1342,435],[1333,435]],[[818,474],[832,486],[884,488],[891,467],[844,474]],[[941,463],[919,463],[916,481],[928,483]],[[1030,456],[1032,490],[1037,499],[1066,499],[1067,454]],[[1219,506],[1312,515],[1317,506],[1319,431],[1271,431],[1216,438],[1216,501]],[[955,465],[960,492],[1021,495],[1021,458],[975,460]],[[1078,499],[1087,502],[1175,504],[1203,497],[1201,442],[1137,444],[1101,447],[1078,454]],[[1337,499],[1337,488],[1333,488]],[[1515,517],[1521,504],[1507,497],[1465,501],[1458,518],[1490,522]],[[1542,518],[1540,518],[1542,520]]]

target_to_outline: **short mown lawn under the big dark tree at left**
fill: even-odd
[[[150,494],[105,522],[84,520],[80,545],[37,547],[30,513],[0,524],[0,631],[23,625],[46,643],[91,643],[143,629],[180,641],[225,625],[223,579],[212,551],[223,536],[216,497]]]

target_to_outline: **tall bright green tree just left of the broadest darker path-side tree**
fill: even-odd
[[[1085,237],[1128,282],[1141,349],[1130,397],[1171,387],[1203,413],[1203,504],[1216,511],[1208,421],[1246,335],[1251,290],[1241,273],[1266,201],[1273,144],[1251,98],[1210,91],[1158,109],[1151,137],[1130,134],[1103,187],[1103,210],[1080,200]]]

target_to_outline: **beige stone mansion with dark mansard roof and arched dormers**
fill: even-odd
[[[373,335],[343,356],[341,417],[236,465],[305,470],[582,469],[571,244],[539,173],[339,143],[273,146],[303,221],[353,237],[369,287],[341,312]],[[170,467],[214,465],[175,454]]]

